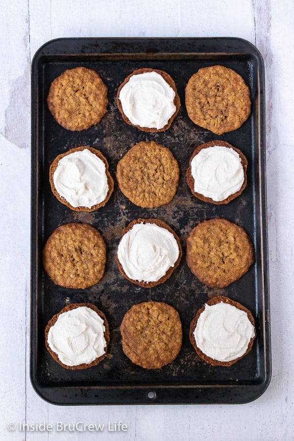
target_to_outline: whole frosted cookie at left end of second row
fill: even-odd
[[[54,196],[73,211],[98,210],[114,187],[106,158],[85,146],[58,155],[50,165],[49,181]]]

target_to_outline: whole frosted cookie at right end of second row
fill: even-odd
[[[227,204],[240,196],[247,185],[247,159],[224,141],[210,141],[194,150],[187,182],[198,199]]]

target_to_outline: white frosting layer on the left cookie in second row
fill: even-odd
[[[108,193],[105,164],[87,148],[60,159],[53,183],[59,195],[73,207],[91,208]]]

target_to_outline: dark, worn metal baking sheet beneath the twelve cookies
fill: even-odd
[[[199,68],[222,64],[240,73],[249,85],[252,113],[241,128],[217,136],[188,118],[184,91]],[[46,104],[51,81],[66,69],[85,66],[97,70],[109,89],[108,113],[101,123],[71,132],[56,123]],[[133,70],[151,67],[174,79],[181,109],[169,130],[146,133],[123,122],[116,92]],[[260,396],[270,382],[270,322],[266,207],[266,144],[264,64],[258,50],[237,38],[76,38],[57,39],[41,47],[32,62],[32,193],[31,193],[31,352],[30,375],[36,392],[55,404],[167,404],[245,403]],[[244,193],[228,205],[212,205],[192,196],[185,173],[194,149],[213,139],[240,148],[248,160]],[[115,178],[119,159],[129,147],[154,140],[169,147],[180,165],[180,185],[168,205],[143,209],[133,205],[115,182],[108,203],[94,213],[73,212],[59,203],[49,186],[49,165],[72,147],[97,147],[106,156]],[[181,239],[183,258],[170,279],[151,289],[140,288],[120,274],[115,261],[123,228],[133,219],[159,218]],[[186,239],[205,219],[226,218],[243,226],[254,244],[256,262],[240,280],[225,289],[210,289],[189,270]],[[42,267],[42,248],[59,225],[88,222],[101,232],[107,245],[102,281],[86,290],[55,286]],[[212,367],[196,355],[189,342],[190,321],[210,297],[227,295],[251,310],[257,338],[252,351],[229,368]],[[120,323],[134,304],[147,300],[174,306],[183,324],[183,346],[177,359],[156,370],[131,363],[122,350]],[[110,325],[109,356],[98,366],[67,370],[45,347],[49,319],[68,303],[91,302]],[[154,392],[149,394],[148,392]],[[150,396],[153,397],[150,398]]]

